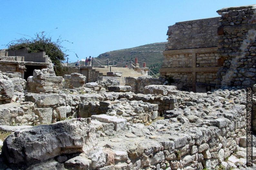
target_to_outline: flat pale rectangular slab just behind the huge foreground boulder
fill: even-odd
[[[127,123],[126,119],[117,118],[116,116],[109,116],[106,114],[92,115],[91,119],[96,119],[103,123],[113,123],[115,130],[122,130]]]

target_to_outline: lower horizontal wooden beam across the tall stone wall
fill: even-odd
[[[160,73],[193,73],[193,72],[215,72],[217,73],[220,67],[179,67],[179,68],[160,68]]]

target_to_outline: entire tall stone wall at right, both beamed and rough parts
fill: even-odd
[[[256,83],[256,7],[223,8],[221,17],[169,26],[161,76],[179,90],[207,92]]]

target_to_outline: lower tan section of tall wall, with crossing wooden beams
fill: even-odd
[[[172,85],[179,90],[206,92],[215,88],[219,68],[216,47],[165,50],[163,54],[161,77],[173,78]]]

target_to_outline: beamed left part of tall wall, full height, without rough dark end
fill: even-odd
[[[215,88],[219,19],[177,22],[169,26],[161,77],[172,77],[175,80],[172,85],[179,90],[205,92]]]

